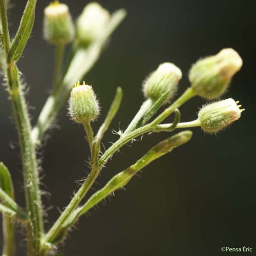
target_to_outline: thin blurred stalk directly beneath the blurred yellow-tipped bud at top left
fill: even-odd
[[[55,47],[55,65],[53,72],[53,90],[56,92],[60,86],[61,69],[65,46],[59,44]]]

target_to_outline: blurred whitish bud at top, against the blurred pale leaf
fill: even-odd
[[[101,36],[109,21],[109,11],[95,2],[88,4],[77,18],[76,28],[78,42],[82,46],[87,47],[91,42]]]

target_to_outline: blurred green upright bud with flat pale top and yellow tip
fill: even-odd
[[[44,38],[53,45],[66,45],[74,39],[74,25],[69,7],[58,1],[45,8]]]

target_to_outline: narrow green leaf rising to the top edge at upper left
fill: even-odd
[[[27,44],[33,28],[35,18],[35,6],[36,0],[28,0],[18,31],[14,37],[8,54],[9,63],[12,60],[17,61],[23,53],[23,50]]]

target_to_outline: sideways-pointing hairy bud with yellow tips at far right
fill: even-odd
[[[216,133],[238,120],[244,109],[237,105],[239,101],[225,99],[203,106],[198,113],[201,128],[206,133]]]

